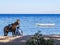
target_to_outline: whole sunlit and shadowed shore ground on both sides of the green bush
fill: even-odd
[[[32,35],[27,36],[0,36],[0,45],[26,45],[26,41],[30,39]],[[51,35],[44,36],[45,39],[54,39],[54,45],[60,45],[60,36]]]

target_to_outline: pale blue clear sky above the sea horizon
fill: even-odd
[[[0,0],[0,14],[60,13],[60,0]]]

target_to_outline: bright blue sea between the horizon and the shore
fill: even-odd
[[[20,29],[23,35],[32,35],[37,31],[42,34],[60,34],[60,14],[0,14],[0,36],[4,34],[4,27],[20,19]],[[55,26],[43,27],[36,23],[54,23]],[[8,34],[12,35],[11,32]]]

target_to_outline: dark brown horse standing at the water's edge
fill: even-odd
[[[8,32],[12,32],[12,35],[15,35],[16,27],[19,26],[19,20],[15,23],[4,27],[4,36],[7,36]]]

